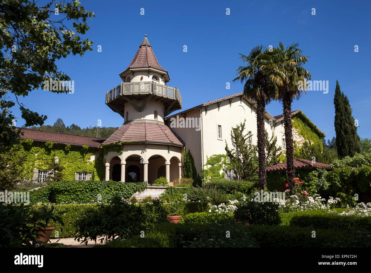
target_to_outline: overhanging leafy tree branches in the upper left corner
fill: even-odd
[[[86,19],[95,17],[79,1],[51,0],[44,6],[30,0],[4,0],[0,3],[0,135],[1,141],[15,142],[15,117],[9,111],[19,105],[26,126],[42,125],[46,116],[26,108],[18,102],[19,96],[27,96],[42,87],[44,81],[70,81],[67,74],[58,69],[56,61],[70,53],[83,55],[92,51],[92,42],[85,35],[89,27]],[[67,93],[68,90],[50,90]],[[9,100],[13,94],[16,103]]]

